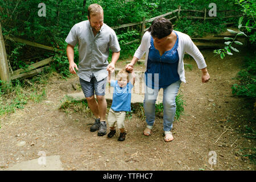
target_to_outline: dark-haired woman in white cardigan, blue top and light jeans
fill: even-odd
[[[143,35],[127,71],[133,71],[135,63],[146,52],[144,111],[147,126],[144,135],[151,135],[155,122],[155,101],[160,88],[163,88],[163,130],[164,141],[174,139],[171,133],[172,123],[176,113],[175,98],[181,81],[185,82],[183,58],[185,52],[195,59],[202,71],[202,82],[209,81],[209,73],[204,57],[192,42],[191,38],[179,31],[172,30],[172,23],[165,18],[155,19],[147,32]]]

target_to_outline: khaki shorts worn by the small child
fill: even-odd
[[[125,115],[126,111],[114,111],[113,109],[109,109],[109,116],[108,116],[108,125],[109,127],[114,127],[115,122],[117,123],[118,129],[125,128]]]

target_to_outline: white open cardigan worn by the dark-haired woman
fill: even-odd
[[[180,80],[183,82],[186,82],[184,62],[183,62],[185,52],[187,52],[189,55],[193,57],[193,59],[195,59],[199,69],[206,68],[207,65],[205,63],[204,56],[201,54],[201,52],[196,47],[196,45],[192,42],[191,38],[187,34],[184,34],[182,32],[179,32],[179,31],[175,31],[175,32],[179,36],[179,45],[177,47],[177,52],[179,54],[179,63],[178,63],[177,72],[180,76]],[[141,59],[141,57],[146,52],[146,57],[145,57],[146,69],[147,69],[147,57],[148,57],[148,52],[150,48],[150,39],[151,39],[151,34],[150,32],[146,31],[142,37],[141,45],[138,47],[137,51],[134,53],[134,57]]]

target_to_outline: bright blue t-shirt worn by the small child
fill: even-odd
[[[125,87],[120,87],[117,80],[111,80],[110,86],[114,87],[111,108],[114,111],[131,111],[131,89],[133,85],[128,82]]]

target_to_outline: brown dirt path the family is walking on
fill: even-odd
[[[164,142],[162,119],[156,119],[152,135],[146,137],[142,134],[145,123],[135,116],[126,120],[124,142],[117,141],[119,133],[112,139],[98,137],[89,131],[93,118],[59,109],[67,93],[55,83],[47,85],[45,101],[28,103],[26,108],[1,118],[1,169],[37,159],[38,152],[44,151],[47,156],[60,155],[64,170],[255,170],[255,165],[241,156],[255,147],[255,139],[245,138],[242,132],[246,125],[253,126],[250,119],[255,113],[247,109],[243,98],[233,97],[230,89],[246,52],[225,60],[213,57],[211,50],[202,53],[210,82],[202,84],[195,61],[185,59],[193,68],[186,69],[187,84],[181,84],[187,106],[180,121],[174,122],[174,141]],[[50,82],[57,81],[53,77]],[[67,80],[74,81],[77,77]],[[21,141],[26,143],[17,146]],[[216,165],[208,162],[213,154]]]

